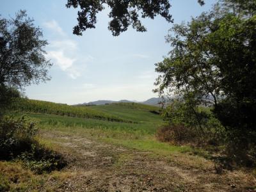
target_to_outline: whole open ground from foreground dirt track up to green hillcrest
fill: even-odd
[[[68,165],[38,175],[19,161],[0,161],[0,189],[8,185],[10,191],[254,190],[251,173],[225,170],[217,174],[206,155],[195,155],[190,147],[157,141],[156,130],[166,122],[155,113],[159,110],[156,107],[52,103],[50,108],[49,103],[32,102],[33,108],[15,106],[12,115],[26,114],[35,121],[39,128],[36,139],[63,154]],[[67,111],[73,111],[72,115]],[[87,115],[81,115],[82,111]]]

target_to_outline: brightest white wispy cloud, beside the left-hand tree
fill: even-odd
[[[45,22],[44,25],[51,31],[59,33],[61,37],[61,39],[49,41],[47,58],[52,60],[61,70],[67,72],[72,79],[81,76],[86,63],[92,61],[93,57],[81,56],[77,43],[67,37],[56,20]]]

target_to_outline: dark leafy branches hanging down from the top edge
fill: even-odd
[[[199,4],[204,4],[203,0],[198,0]],[[67,8],[80,8],[77,13],[78,24],[74,27],[73,33],[82,35],[86,29],[95,28],[97,13],[104,10],[104,6],[110,8],[108,14],[111,21],[108,29],[114,36],[127,30],[129,26],[136,31],[147,31],[141,24],[140,17],[154,19],[156,15],[161,15],[168,22],[172,22],[170,15],[169,0],[68,0]]]

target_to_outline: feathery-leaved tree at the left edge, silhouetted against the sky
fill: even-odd
[[[0,17],[0,106],[10,99],[13,88],[49,80],[52,64],[45,58],[47,41],[42,37],[26,11],[21,10],[14,19]]]

